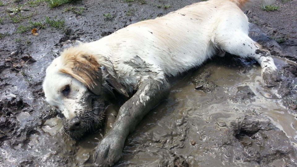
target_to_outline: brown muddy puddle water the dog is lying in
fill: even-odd
[[[287,60],[280,58],[274,58],[274,60],[277,66],[288,63],[285,62]],[[207,164],[255,166],[241,161],[233,163],[224,161],[216,158],[216,152],[209,152],[205,156],[208,148],[204,145],[210,140],[220,138],[208,133],[209,127],[213,128],[224,122],[226,126],[230,126],[232,120],[244,118],[247,115],[260,120],[269,118],[289,138],[296,138],[294,128],[297,126],[296,115],[288,112],[282,105],[282,99],[272,88],[261,86],[260,70],[260,66],[254,61],[226,58],[210,61],[200,69],[191,72],[172,86],[168,99],[147,114],[127,138],[123,157],[116,166],[159,166],[160,164],[168,166],[174,161],[172,152],[183,157],[193,167]],[[206,80],[217,85],[211,92],[195,90],[195,86],[190,82],[205,71],[211,71],[211,75]],[[251,99],[234,100],[238,87],[246,85],[255,96]],[[114,113],[109,113],[108,118],[114,120],[113,115]],[[21,117],[28,117],[28,113],[19,114],[18,118],[22,119]],[[79,166],[92,165],[94,148],[98,139],[104,135],[103,131],[98,131],[95,134],[86,135],[79,141],[72,141],[67,136],[59,134],[62,129],[60,118],[47,120],[42,129],[49,132],[56,140],[67,140],[65,144],[68,145],[67,149],[74,149],[74,144],[75,161]],[[45,145],[47,146],[46,143]],[[209,147],[214,146],[209,145]],[[260,149],[256,144],[252,147]],[[283,160],[275,160],[269,165],[282,166],[283,164]]]

